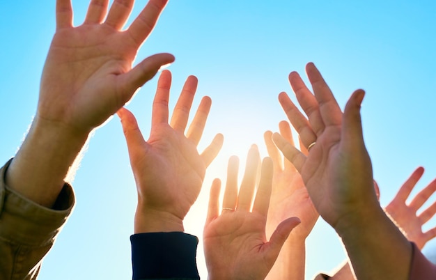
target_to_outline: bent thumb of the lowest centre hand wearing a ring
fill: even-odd
[[[289,233],[301,223],[300,219],[297,217],[290,217],[282,221],[279,226],[277,226],[274,233],[272,233],[270,242],[268,242],[267,256],[265,260],[271,262],[271,267],[279,256],[281,247],[288,239]]]

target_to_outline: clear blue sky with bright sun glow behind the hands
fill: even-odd
[[[13,157],[36,111],[42,66],[54,29],[54,0],[0,1],[0,161]],[[73,0],[75,24],[87,0]],[[131,20],[145,6],[137,1]],[[201,240],[213,178],[225,179],[230,155],[242,162],[251,143],[286,119],[277,95],[290,93],[288,73],[316,63],[341,106],[356,88],[366,90],[361,110],[366,146],[386,205],[417,166],[417,189],[436,178],[436,2],[170,0],[138,59],[170,52],[176,62],[171,108],[188,75],[199,79],[197,98],[212,98],[199,149],[217,132],[224,147],[208,169],[203,189],[185,219]],[[127,106],[147,138],[157,79]],[[73,184],[75,211],[44,260],[40,279],[130,279],[130,240],[136,188],[117,117],[101,127]],[[415,194],[414,192],[413,194]],[[433,201],[436,197],[433,196]],[[436,226],[432,219],[426,228]],[[436,242],[424,250],[436,255]],[[336,233],[323,221],[307,240],[306,279],[343,259]],[[198,269],[206,279],[201,242]]]

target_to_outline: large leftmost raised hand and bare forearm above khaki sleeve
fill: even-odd
[[[134,68],[137,51],[167,0],[150,0],[122,31],[134,0],[91,0],[84,24],[72,26],[72,3],[56,1],[56,33],[45,61],[36,116],[9,166],[7,184],[51,207],[88,134],[123,107],[171,54],[156,54]],[[29,182],[32,182],[29,187]]]

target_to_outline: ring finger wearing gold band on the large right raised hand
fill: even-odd
[[[288,116],[290,123],[295,130],[297,130],[304,145],[309,146],[311,143],[315,142],[316,134],[313,132],[309,121],[290,100],[289,96],[286,93],[280,93],[279,102],[286,116]]]

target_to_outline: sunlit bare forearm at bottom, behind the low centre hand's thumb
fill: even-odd
[[[303,280],[306,265],[306,242],[304,238],[297,238],[290,234],[288,240],[281,248],[270,273],[268,280],[288,279]]]

